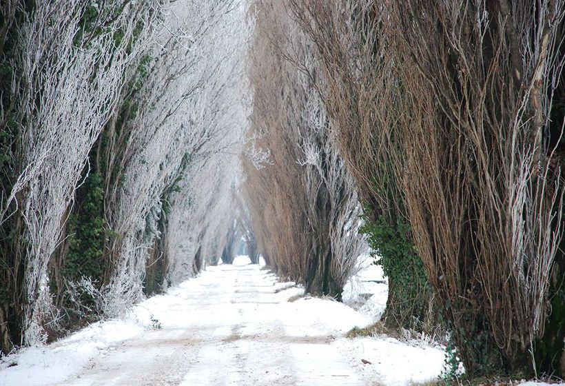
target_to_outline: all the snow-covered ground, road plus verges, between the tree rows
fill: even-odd
[[[361,287],[348,285],[348,297],[367,295]],[[343,338],[374,322],[386,291],[373,293],[380,300],[357,312],[302,297],[258,265],[208,267],[123,318],[0,360],[0,386],[368,386],[438,376],[441,349],[386,336]]]

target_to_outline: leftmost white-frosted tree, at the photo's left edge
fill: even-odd
[[[11,55],[3,65],[12,73],[12,87],[2,90],[9,98],[3,99],[1,130],[10,159],[3,165],[9,177],[0,212],[6,235],[0,319],[10,320],[10,340],[18,344],[43,341],[45,327],[56,318],[48,263],[88,152],[110,119],[125,68],[138,53],[130,41],[134,34],[143,41],[138,23],[152,19],[152,3],[116,1],[98,10],[96,21],[89,19],[90,1],[32,3],[6,3],[1,28]],[[130,12],[136,18],[126,17]],[[6,351],[10,347],[2,335]]]

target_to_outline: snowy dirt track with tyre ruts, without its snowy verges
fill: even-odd
[[[156,307],[163,314],[154,314],[161,329],[111,347],[65,384],[364,385],[328,344],[341,327],[320,320],[329,309],[302,323],[299,309],[287,303],[300,290],[282,290],[288,284],[258,266],[212,270],[195,280],[198,285],[187,283],[186,291],[181,287],[173,296],[150,299],[167,303]]]

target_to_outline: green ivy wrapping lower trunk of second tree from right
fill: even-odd
[[[384,216],[376,221],[366,216],[364,220],[361,232],[367,234],[375,263],[382,266],[389,278],[389,290],[393,291],[387,307],[393,307],[394,317],[402,327],[420,328],[431,287],[422,260],[415,252],[410,224],[400,217],[393,225]]]

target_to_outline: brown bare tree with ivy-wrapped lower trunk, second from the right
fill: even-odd
[[[289,0],[292,17],[316,51],[311,79],[327,109],[331,135],[364,206],[364,232],[389,282],[384,321],[435,329],[431,287],[413,240],[401,183],[398,141],[402,84],[383,39],[386,13],[379,1]],[[297,63],[306,70],[305,65]],[[316,76],[314,76],[316,75]]]

